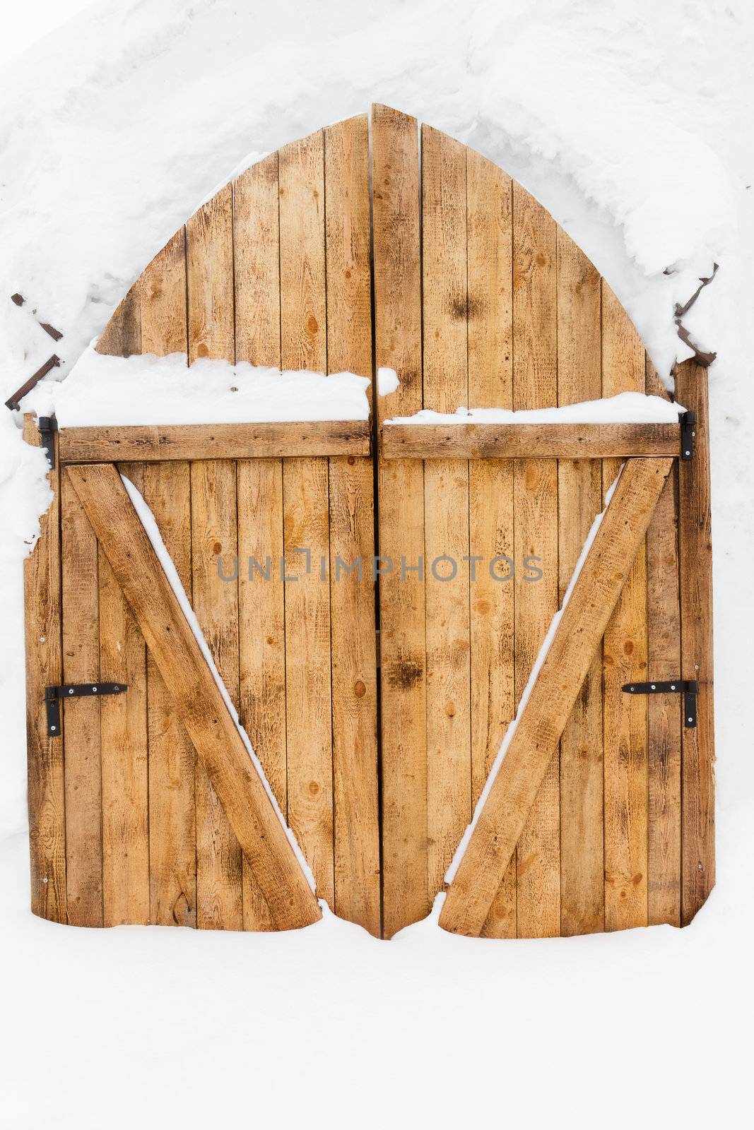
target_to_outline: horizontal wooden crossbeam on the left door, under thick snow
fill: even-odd
[[[369,420],[63,427],[63,463],[369,455]]]

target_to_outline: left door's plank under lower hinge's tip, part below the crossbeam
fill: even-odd
[[[124,473],[144,490],[144,468]],[[99,678],[128,693],[99,703],[102,895],[105,925],[149,921],[147,649],[133,612],[99,548]]]

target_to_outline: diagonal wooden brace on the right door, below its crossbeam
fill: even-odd
[[[621,476],[450,885],[440,915],[447,930],[478,935],[484,925],[670,463],[630,460]]]

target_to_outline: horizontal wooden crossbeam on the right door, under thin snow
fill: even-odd
[[[681,453],[679,424],[385,424],[383,459],[629,459]]]

